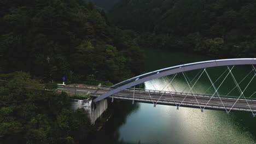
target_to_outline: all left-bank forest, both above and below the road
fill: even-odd
[[[88,1],[0,1],[0,24],[0,143],[85,141],[88,114],[49,82],[111,85],[142,69],[137,43]]]

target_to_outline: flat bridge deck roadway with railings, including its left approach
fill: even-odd
[[[109,87],[102,87],[98,89],[94,88],[74,88],[74,87],[61,87],[59,90],[75,92],[77,93],[87,93],[91,92],[91,97],[100,97],[102,94],[107,93],[112,90]],[[149,95],[150,94],[150,95]],[[187,95],[187,97],[186,97]],[[160,98],[161,97],[161,98]],[[221,100],[218,95],[200,95],[200,94],[187,94],[187,93],[176,93],[167,91],[143,91],[136,89],[133,98],[133,89],[126,89],[113,96],[108,97],[110,99],[120,99],[120,100],[134,100],[141,103],[152,103],[161,105],[174,105],[174,106],[185,106],[185,107],[196,107],[205,109],[215,109],[215,110],[230,110],[232,111],[246,111],[246,112],[256,112],[256,100],[255,99],[239,99],[235,97],[222,97]],[[160,99],[159,99],[160,98]],[[184,99],[185,98],[185,99]],[[210,100],[211,99],[211,100]],[[209,101],[210,100],[210,101]],[[197,102],[198,101],[198,102]],[[208,102],[209,101],[209,102]],[[248,104],[247,104],[248,103]],[[224,106],[223,106],[224,105]]]

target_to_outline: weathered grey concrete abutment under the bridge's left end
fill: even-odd
[[[95,124],[96,120],[101,117],[102,113],[107,110],[108,108],[108,101],[107,99],[103,99],[97,101],[96,103],[92,102],[93,98],[89,99],[74,99],[72,103],[72,110],[77,110],[81,107],[85,109],[88,113],[88,118],[91,121],[91,124]]]

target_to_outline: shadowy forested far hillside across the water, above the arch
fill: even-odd
[[[256,57],[254,0],[121,0],[109,16],[147,47]]]

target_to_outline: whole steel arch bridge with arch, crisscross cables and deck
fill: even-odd
[[[197,63],[189,63],[183,65],[177,65],[170,68],[160,69],[152,71],[147,74],[139,75],[133,77],[129,80],[117,83],[112,87],[101,87],[98,91],[92,92],[91,96],[97,97],[94,99],[94,102],[100,101],[104,98],[112,99],[124,99],[132,101],[141,101],[144,103],[153,103],[164,104],[164,105],[175,105],[177,109],[179,106],[188,106],[188,107],[197,107],[200,108],[203,112],[204,109],[219,109],[225,110],[229,113],[231,110],[236,111],[248,111],[252,112],[253,116],[256,115],[256,99],[251,98],[256,92],[254,92],[249,97],[245,97],[245,91],[248,86],[251,84],[252,80],[256,76],[256,69],[253,66],[256,64],[256,58],[236,58],[236,59],[220,59],[214,61],[205,61]],[[230,67],[230,65],[232,67]],[[241,80],[237,82],[232,69],[235,65],[252,65],[252,70],[244,77],[245,80],[249,75],[252,75],[251,79],[247,83],[244,89],[241,89]],[[211,67],[220,67],[226,66],[226,70],[218,74],[217,80],[212,80],[210,75],[207,72],[206,68]],[[185,73],[186,71],[201,69],[199,73],[190,81],[189,77]],[[195,85],[199,81],[200,77],[205,73],[208,80],[211,82],[211,87],[214,88],[213,94],[198,94],[196,93]],[[173,86],[173,80],[177,74],[182,74],[184,76],[185,82],[187,82],[189,87],[189,92],[177,92],[175,86]],[[162,91],[155,90],[146,90],[146,89],[136,89],[135,86],[140,83],[150,81],[153,79],[158,79],[163,76],[173,75],[172,79],[168,82],[165,81],[165,87],[162,88]],[[226,78],[230,76],[235,83],[235,87],[230,89],[232,92],[234,89],[238,89],[240,94],[236,95],[237,97],[228,97],[226,95],[219,94],[219,88],[223,85],[223,82]],[[222,78],[222,81],[219,81],[220,84],[217,86],[216,82]],[[195,80],[195,82],[193,82]],[[153,84],[152,84],[153,85]],[[154,86],[153,86],[154,87]],[[174,89],[174,92],[171,92],[170,89]],[[89,91],[89,89],[88,89]]]

